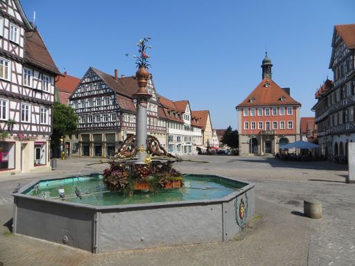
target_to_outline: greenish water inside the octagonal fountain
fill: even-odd
[[[111,192],[103,184],[103,177],[69,177],[40,181],[37,190],[31,189],[25,192],[27,195],[44,197],[47,199],[61,200],[58,189],[63,186],[65,201],[80,202],[96,206],[122,205],[122,204],[149,204],[155,202],[180,202],[197,199],[220,199],[232,193],[234,190],[243,188],[247,184],[236,182],[227,183],[224,179],[210,175],[186,175],[184,187],[162,189],[158,193],[136,190],[131,197],[121,192]],[[78,188],[83,196],[79,199],[75,195]]]

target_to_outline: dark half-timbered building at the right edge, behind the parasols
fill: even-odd
[[[344,158],[348,143],[355,142],[355,24],[335,26],[331,46],[334,82],[327,79],[318,89],[312,111],[320,153]]]

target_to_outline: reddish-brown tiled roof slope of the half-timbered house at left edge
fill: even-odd
[[[41,67],[55,75],[60,75],[60,71],[55,66],[53,58],[38,30],[26,32],[25,37],[25,60],[36,67]]]

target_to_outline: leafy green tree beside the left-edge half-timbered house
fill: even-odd
[[[77,121],[78,116],[71,107],[55,103],[53,107],[53,133],[51,135],[51,146],[55,154],[60,148],[60,139],[72,134],[77,129]]]

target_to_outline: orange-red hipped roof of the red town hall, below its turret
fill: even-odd
[[[268,82],[269,87],[266,87]],[[284,101],[281,97],[284,97]],[[252,103],[250,99],[254,99]],[[264,106],[264,105],[301,105],[297,101],[293,100],[286,91],[284,91],[279,85],[277,85],[270,78],[264,78],[259,85],[248,95],[242,103],[236,107],[252,107],[252,106]]]

